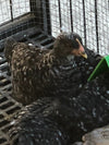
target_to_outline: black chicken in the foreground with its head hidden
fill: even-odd
[[[27,138],[28,145],[31,143],[43,145],[46,140],[49,145],[59,143],[60,145],[71,145],[81,141],[85,133],[108,123],[109,81],[106,80],[106,76],[99,76],[93,82],[86,83],[76,97],[69,98],[66,95],[44,97],[25,107],[17,116],[9,134],[10,140],[13,141],[12,145],[22,145],[21,141],[26,143]],[[57,132],[57,136],[55,132]],[[40,138],[39,134],[41,134]],[[53,138],[53,142],[50,138]]]

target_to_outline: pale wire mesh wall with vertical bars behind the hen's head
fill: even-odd
[[[109,53],[109,8],[108,0],[52,0],[50,19],[52,35],[62,28],[78,33],[89,49],[101,55]]]

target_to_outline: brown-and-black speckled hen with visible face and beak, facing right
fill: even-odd
[[[51,50],[5,41],[5,58],[12,73],[13,97],[28,105],[39,97],[76,96],[93,71],[96,55],[86,49],[82,38],[74,33],[61,33]],[[94,65],[94,67],[93,67]]]

